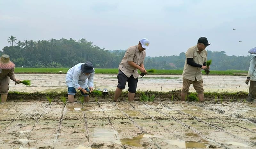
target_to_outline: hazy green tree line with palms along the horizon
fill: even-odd
[[[125,50],[109,51],[93,45],[82,38],[78,41],[69,38],[50,40],[17,41],[16,37],[7,39],[10,46],[5,46],[2,54],[10,55],[16,67],[73,67],[79,62],[91,61],[95,68],[118,68]],[[250,59],[248,56],[228,56],[225,51],[209,51],[208,59],[212,59],[211,70],[248,70]],[[147,56],[144,65],[147,69],[179,69],[184,67],[186,56],[181,52],[179,56]]]

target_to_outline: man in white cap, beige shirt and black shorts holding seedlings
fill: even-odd
[[[138,45],[129,47],[119,64],[117,81],[118,85],[115,91],[114,101],[116,102],[124,90],[126,82],[128,82],[128,101],[133,101],[137,89],[139,73],[147,73],[144,67],[144,59],[146,57],[146,49],[148,49],[149,41],[143,38]]]

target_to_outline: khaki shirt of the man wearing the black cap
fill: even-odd
[[[207,61],[207,51],[202,50],[199,53],[199,50],[197,48],[197,45],[192,46],[188,48],[188,51],[185,53],[186,54],[186,60],[185,60],[185,65],[183,69],[182,76],[188,80],[197,81],[203,79],[202,75],[202,69],[199,67],[193,67],[187,64],[187,58],[193,58],[193,61],[197,64],[203,65],[204,62]]]

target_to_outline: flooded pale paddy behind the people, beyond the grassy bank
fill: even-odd
[[[31,86],[27,87],[23,84],[10,83],[11,91],[19,92],[49,92],[49,91],[65,91],[67,86],[65,83],[66,74],[15,74],[20,80],[31,80]],[[248,92],[249,85],[245,84],[245,76],[219,76],[209,75],[203,76],[204,90],[216,92]],[[94,87],[114,91],[117,86],[116,74],[95,74]],[[139,78],[137,90],[151,91],[172,91],[182,88],[181,75],[146,75]],[[128,84],[126,88],[128,90]],[[190,86],[190,91],[195,92],[193,86]]]

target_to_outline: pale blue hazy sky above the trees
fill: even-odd
[[[208,50],[246,56],[256,47],[255,8],[256,0],[0,0],[0,49],[11,35],[85,38],[106,50],[148,38],[147,56],[170,56],[205,36]]]

